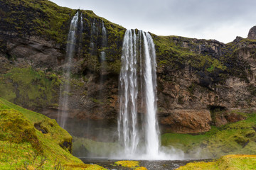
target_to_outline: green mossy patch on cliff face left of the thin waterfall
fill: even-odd
[[[31,67],[0,74],[0,96],[26,108],[44,108],[58,102],[60,79]]]

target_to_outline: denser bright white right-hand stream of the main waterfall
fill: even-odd
[[[144,41],[144,89],[146,103],[146,154],[159,154],[159,127],[156,120],[156,53],[149,33],[142,33]]]

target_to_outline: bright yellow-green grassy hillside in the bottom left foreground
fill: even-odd
[[[70,154],[72,137],[55,120],[0,98],[1,169],[103,169]]]

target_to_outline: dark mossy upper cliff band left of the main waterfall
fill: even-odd
[[[92,11],[61,7],[48,0],[0,0],[0,30],[8,31],[8,34],[21,38],[29,39],[30,36],[38,36],[64,50],[70,21],[76,11],[80,11],[83,23],[83,29],[80,24],[78,26],[76,56],[85,58],[85,65],[91,72],[100,72],[100,52],[104,50],[108,62],[107,71],[118,74],[122,38],[126,29],[95,15]],[[107,47],[104,49],[102,48],[102,22],[107,30]],[[92,31],[93,26],[97,27],[95,33]],[[95,49],[92,49],[91,43],[94,43]],[[0,47],[3,47],[2,51],[6,51],[5,42],[0,41]]]

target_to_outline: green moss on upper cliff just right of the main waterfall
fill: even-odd
[[[153,35],[153,38],[159,67],[176,70],[182,68],[184,64],[188,64],[194,69],[210,73],[215,72],[216,68],[222,71],[227,69],[221,60],[210,55],[198,54],[193,48],[199,47],[200,42],[196,43],[193,39],[156,35]],[[183,42],[188,43],[189,47],[183,47]]]

